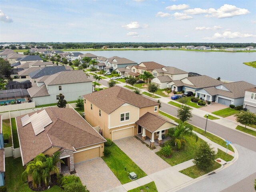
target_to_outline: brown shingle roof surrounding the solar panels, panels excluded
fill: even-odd
[[[45,110],[52,123],[37,136],[34,134],[31,123],[22,127],[21,118],[24,115],[16,117],[23,165],[52,146],[75,151],[74,148],[78,149],[106,141],[74,109],[50,107]],[[38,112],[40,111],[42,110]],[[28,115],[31,116],[34,113]]]

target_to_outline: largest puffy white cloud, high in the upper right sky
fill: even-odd
[[[245,15],[250,13],[247,9],[238,8],[234,5],[224,4],[217,10],[214,8],[201,9],[194,8],[184,10],[186,14],[207,14],[206,17],[216,17],[216,18],[228,18],[233,16]]]

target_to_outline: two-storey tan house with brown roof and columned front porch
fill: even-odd
[[[158,108],[157,102],[119,86],[84,95],[86,121],[94,127],[99,126],[102,135],[111,140],[140,134],[143,139],[146,136],[150,138],[152,143],[154,138],[159,138],[161,141],[162,138],[156,135],[159,134],[157,126],[160,128],[164,123],[161,124],[162,119],[158,117]],[[141,122],[147,119],[148,116],[144,116],[147,113],[152,115],[155,122],[161,122],[157,124],[155,130],[144,124],[138,124],[140,118],[142,118]],[[170,127],[161,127],[160,130],[167,130]],[[167,131],[163,134],[166,133]]]

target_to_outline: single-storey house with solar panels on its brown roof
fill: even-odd
[[[46,108],[16,117],[22,164],[38,154],[60,151],[60,173],[76,163],[103,156],[106,140],[72,108]],[[29,178],[31,180],[31,178]]]

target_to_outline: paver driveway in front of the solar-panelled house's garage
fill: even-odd
[[[103,192],[121,185],[102,158],[76,164],[75,169],[90,192]]]

